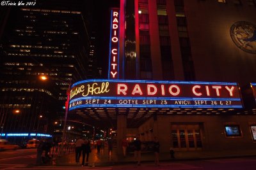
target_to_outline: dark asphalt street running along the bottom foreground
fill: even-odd
[[[74,166],[35,166],[36,149],[10,150],[0,152],[0,169],[102,169],[102,170],[129,170],[129,169],[158,169],[158,170],[255,170],[256,157],[243,157],[233,159],[205,159],[205,160],[174,160],[172,162],[160,162],[155,166],[154,162],[142,162],[136,164],[113,164],[108,167],[93,167],[94,164],[81,167]]]

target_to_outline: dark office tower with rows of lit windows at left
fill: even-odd
[[[52,134],[54,122],[63,126],[68,86],[93,76],[94,50],[82,11],[68,1],[37,3],[4,15],[0,133]],[[43,75],[48,79],[40,80]]]

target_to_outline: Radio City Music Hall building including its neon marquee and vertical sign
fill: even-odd
[[[113,127],[119,153],[120,141],[132,141],[137,134],[143,142],[153,141],[156,136],[160,152],[169,152],[170,148],[191,152],[238,147],[252,150],[256,144],[252,90],[256,81],[255,8],[255,1],[120,0],[120,10],[111,11],[109,48],[112,69],[116,68],[118,55],[120,80],[100,80],[101,87],[99,80],[77,82],[72,86],[75,97],[69,110],[88,120],[116,122]],[[117,28],[118,39],[116,34],[113,36]],[[116,42],[118,48],[113,48]],[[202,96],[197,89],[202,90],[200,83],[212,82],[238,83],[240,97],[223,99],[223,107],[223,102],[209,98],[212,92],[206,87],[206,98],[195,98]],[[90,99],[79,94],[86,91],[83,83],[95,88],[86,94]],[[129,83],[134,83],[132,88]],[[189,99],[198,99],[200,106],[198,101],[191,106],[184,101],[178,101],[177,106],[160,106],[157,100],[165,95],[165,85],[157,87],[159,83],[197,84],[190,93],[195,96]],[[175,85],[170,86],[170,94],[179,94],[172,87]],[[148,100],[159,92],[157,89],[161,89],[161,97]],[[220,97],[217,91],[215,97]],[[167,104],[177,100],[173,96]],[[234,107],[228,104],[230,101],[243,104]]]

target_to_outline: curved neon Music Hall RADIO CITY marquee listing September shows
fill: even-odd
[[[85,80],[72,86],[76,108],[243,108],[237,83]]]

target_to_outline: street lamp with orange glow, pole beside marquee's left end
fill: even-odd
[[[47,76],[40,76],[41,80],[47,80]],[[61,80],[62,81],[62,80]],[[67,83],[66,81],[63,81],[64,83]],[[64,141],[66,138],[66,134],[67,134],[67,117],[68,117],[68,103],[69,103],[69,99],[70,99],[70,85],[71,85],[71,81],[68,83],[68,89],[67,89],[67,101],[65,103],[65,118],[64,118],[64,125],[63,125],[63,131],[62,131],[62,139],[61,139],[61,148],[60,148],[60,154],[63,154],[63,148],[64,148]]]

